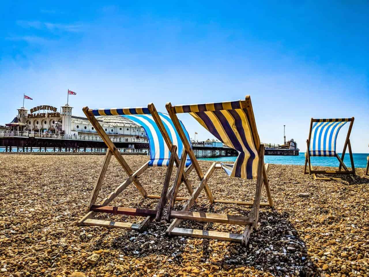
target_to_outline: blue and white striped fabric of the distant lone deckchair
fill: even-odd
[[[314,122],[311,128],[310,155],[334,157],[338,132],[351,120],[351,118],[321,119]]]

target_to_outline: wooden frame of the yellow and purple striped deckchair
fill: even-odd
[[[251,99],[250,96],[246,96],[245,100],[241,100],[242,109],[246,109],[249,115],[249,120],[251,123],[251,130],[253,134],[253,140],[255,143],[256,150],[258,151],[259,156],[259,164],[258,164],[258,175],[256,180],[256,194],[253,202],[245,202],[245,201],[231,201],[231,200],[223,200],[223,199],[214,199],[213,194],[208,187],[207,181],[210,179],[215,169],[220,169],[221,165],[213,163],[211,167],[204,174],[201,170],[201,167],[193,153],[189,142],[186,139],[186,136],[180,126],[175,107],[169,102],[166,104],[166,109],[168,110],[169,116],[172,119],[177,132],[183,142],[184,150],[182,153],[182,159],[186,154],[189,155],[192,160],[192,164],[194,165],[195,171],[200,179],[200,183],[197,188],[194,190],[190,199],[188,199],[186,205],[183,206],[182,211],[172,211],[173,206],[176,201],[176,194],[178,191],[178,187],[180,184],[179,176],[181,174],[181,170],[183,170],[183,164],[179,165],[175,188],[172,190],[172,194],[170,195],[170,201],[167,209],[166,219],[169,221],[171,218],[174,218],[172,223],[169,225],[166,233],[168,235],[179,235],[179,236],[193,236],[193,237],[202,237],[202,238],[211,238],[211,239],[219,239],[219,240],[231,240],[235,242],[240,242],[242,244],[247,244],[250,234],[253,228],[258,228],[258,218],[259,218],[259,208],[260,206],[273,206],[272,195],[270,193],[269,182],[268,182],[268,165],[264,166],[264,145],[260,143],[260,138],[258,132],[256,130],[256,123],[254,112],[252,110]],[[268,202],[260,203],[261,192],[263,186],[265,185],[266,192],[268,194]],[[224,215],[217,213],[197,213],[197,212],[189,212],[190,208],[196,201],[197,197],[200,195],[200,192],[205,189],[207,197],[210,201],[210,204],[214,203],[223,203],[223,204],[238,204],[238,205],[246,205],[252,206],[251,212],[249,216],[233,216],[233,215]],[[241,234],[234,233],[226,233],[226,232],[216,232],[216,231],[205,231],[205,230],[195,230],[195,229],[184,229],[177,228],[177,226],[182,222],[182,220],[197,220],[204,222],[218,222],[218,223],[226,223],[226,224],[237,224],[237,225],[245,225],[245,231]]]

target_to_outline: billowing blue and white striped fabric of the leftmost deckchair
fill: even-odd
[[[165,143],[162,133],[160,132],[158,126],[156,125],[154,119],[152,118],[151,113],[148,108],[125,108],[125,109],[95,109],[92,111],[95,116],[103,116],[103,115],[121,115],[127,119],[132,120],[139,126],[142,126],[145,129],[149,140],[150,146],[150,167],[165,167],[169,164],[170,159],[170,151],[168,146]],[[163,125],[172,141],[173,145],[177,146],[177,155],[181,157],[183,151],[183,143],[177,133],[177,130],[170,119],[168,114],[158,113],[161,118]],[[186,134],[187,140],[190,145],[190,136],[182,124],[180,122],[184,133]],[[186,167],[188,167],[192,161],[189,156],[186,157]]]

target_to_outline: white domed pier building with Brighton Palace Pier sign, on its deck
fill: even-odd
[[[0,125],[0,147],[4,152],[106,151],[89,120],[73,116],[72,109],[69,105],[19,108],[10,123]],[[141,126],[121,116],[97,119],[120,151],[147,151],[148,139]]]

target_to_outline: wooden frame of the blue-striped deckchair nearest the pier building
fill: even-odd
[[[163,212],[165,202],[167,199],[169,199],[169,195],[171,194],[171,191],[175,189],[173,186],[168,191],[170,176],[173,170],[173,165],[175,163],[178,167],[180,163],[182,163],[182,160],[179,160],[179,157],[176,152],[177,146],[172,144],[172,141],[170,140],[170,137],[163,125],[161,118],[159,117],[157,110],[155,109],[154,104],[149,103],[148,110],[151,113],[155,123],[157,124],[158,129],[160,130],[165,140],[165,143],[168,146],[169,151],[171,153],[169,164],[168,164],[166,174],[165,174],[165,181],[164,181],[161,195],[147,194],[144,187],[142,187],[141,183],[138,180],[138,177],[146,169],[149,168],[149,161],[147,161],[144,165],[142,165],[137,171],[133,172],[130,166],[124,160],[119,150],[114,146],[114,143],[110,140],[109,136],[106,134],[103,127],[101,127],[100,123],[97,121],[96,117],[93,114],[93,110],[89,109],[89,107],[84,107],[82,110],[86,114],[87,119],[91,122],[91,124],[93,125],[97,133],[103,139],[104,143],[108,147],[108,151],[105,155],[105,159],[101,167],[99,177],[97,178],[94,189],[92,191],[92,195],[91,195],[91,198],[87,206],[87,210],[86,210],[86,215],[84,215],[82,219],[79,220],[78,224],[79,225],[90,225],[90,226],[103,226],[106,228],[124,228],[124,229],[130,229],[130,230],[143,231],[150,225],[154,217],[156,221],[160,221],[162,217],[162,212]],[[97,196],[101,188],[101,184],[105,177],[105,173],[110,163],[110,158],[112,155],[114,155],[115,158],[117,158],[120,165],[123,167],[125,172],[128,174],[128,178],[122,184],[120,184],[113,192],[111,192],[105,199],[103,199],[100,205],[95,205]],[[184,161],[184,164],[186,164],[186,161]],[[182,170],[180,177],[179,177],[180,183],[184,182],[186,184],[187,190],[189,191],[190,195],[193,193],[193,189],[187,179],[187,176],[190,174],[193,168],[194,168],[193,165],[190,165],[188,168],[186,168],[186,170]],[[158,206],[156,207],[156,210],[132,209],[132,208],[124,208],[124,207],[107,206],[111,201],[114,200],[115,197],[117,197],[132,182],[135,184],[136,188],[139,190],[139,192],[142,194],[144,198],[160,199]],[[187,199],[189,198],[183,198],[183,197],[176,198],[176,200],[178,201],[187,200]],[[94,219],[94,216],[98,212],[112,213],[115,215],[119,214],[119,215],[143,216],[145,217],[145,220],[141,224],[135,224],[135,223],[129,223],[129,222],[114,222],[114,221],[108,221],[108,220]]]

